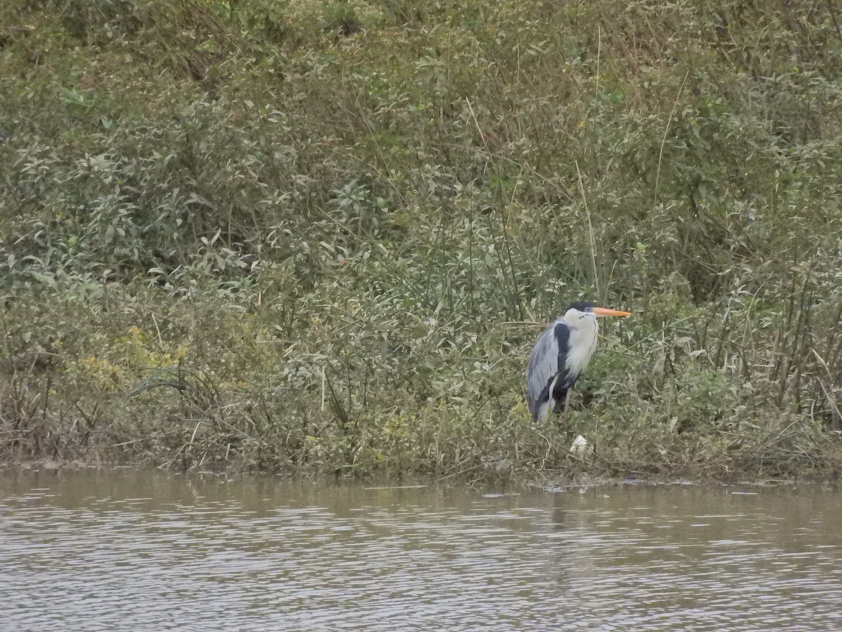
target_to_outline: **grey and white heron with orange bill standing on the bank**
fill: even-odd
[[[526,365],[526,401],[535,420],[544,420],[549,410],[568,409],[570,389],[576,383],[596,349],[601,316],[631,316],[619,309],[595,307],[576,301],[564,315],[538,336]]]

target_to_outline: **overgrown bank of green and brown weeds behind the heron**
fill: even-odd
[[[627,5],[0,3],[0,451],[834,472],[842,12]],[[535,428],[579,297],[636,315]]]

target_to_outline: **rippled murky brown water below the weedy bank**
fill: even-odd
[[[838,492],[0,476],[0,629],[842,629]]]

